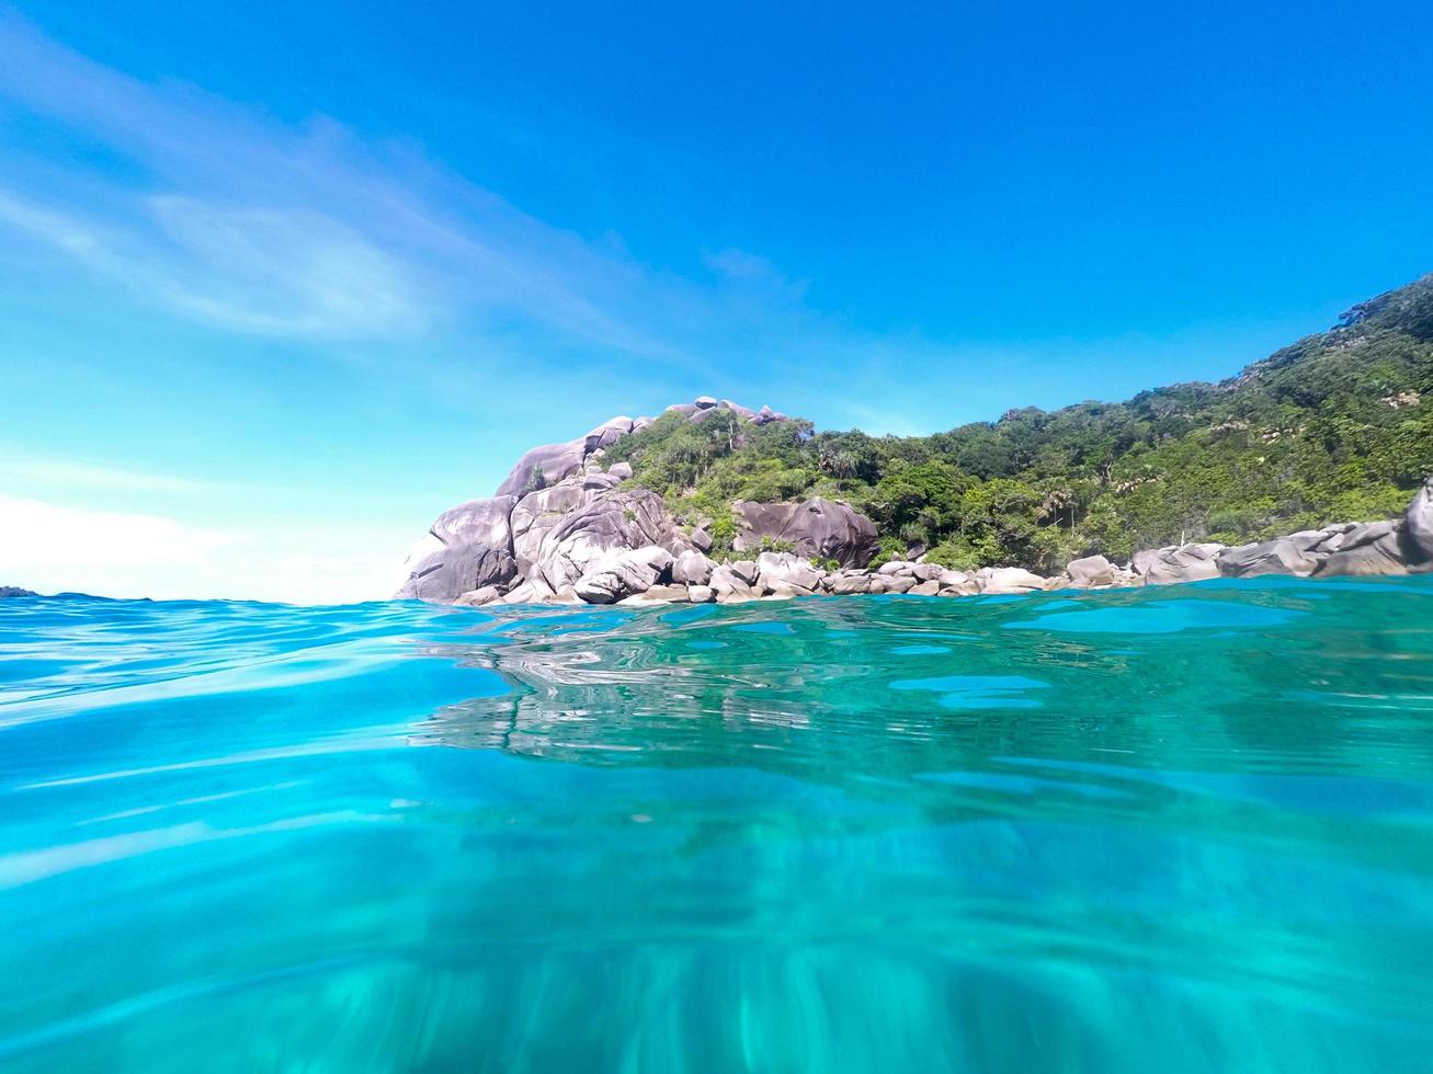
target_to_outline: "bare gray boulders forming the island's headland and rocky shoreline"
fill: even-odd
[[[711,397],[669,410],[691,421],[722,410],[757,425],[788,420],[768,407],[754,411]],[[476,606],[741,603],[861,593],[956,597],[1433,570],[1433,478],[1401,518],[1338,523],[1241,546],[1166,546],[1139,551],[1128,564],[1088,556],[1053,577],[1020,567],[960,571],[919,560],[871,567],[876,526],[848,504],[737,503],[741,533],[732,547],[742,557],[718,563],[708,556],[712,537],[705,528],[679,526],[659,495],[626,484],[626,463],[603,465],[606,448],[652,421],[612,418],[585,437],[524,454],[493,497],[460,504],[433,523],[406,561],[408,579],[396,599]],[[782,550],[762,550],[772,544]]]

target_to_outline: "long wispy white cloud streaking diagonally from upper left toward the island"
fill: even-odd
[[[304,339],[463,339],[535,369],[573,348],[688,379],[800,381],[815,354],[884,362],[888,341],[811,309],[804,284],[754,253],[706,253],[702,278],[655,271],[410,146],[133,79],[3,10],[0,54],[0,107],[125,162],[6,169],[0,231],[172,315]]]

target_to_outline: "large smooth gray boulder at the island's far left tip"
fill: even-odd
[[[450,604],[464,593],[512,581],[517,563],[509,516],[516,503],[514,497],[496,495],[440,514],[408,553],[408,580],[396,599]]]

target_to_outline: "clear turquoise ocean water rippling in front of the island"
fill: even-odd
[[[1426,1071],[1433,577],[0,601],[4,1071]]]

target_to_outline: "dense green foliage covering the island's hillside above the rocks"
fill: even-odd
[[[729,547],[734,500],[845,500],[883,556],[1058,569],[1181,538],[1390,517],[1433,473],[1433,276],[1360,304],[1222,384],[1007,412],[930,437],[675,412],[619,441],[635,481]]]

